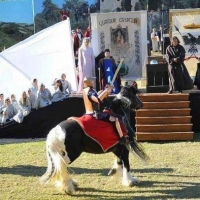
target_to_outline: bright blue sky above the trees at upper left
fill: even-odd
[[[35,14],[42,11],[43,0],[33,0]],[[62,7],[64,0],[52,0]],[[94,3],[95,0],[88,0]],[[33,23],[32,0],[0,0],[0,22]]]

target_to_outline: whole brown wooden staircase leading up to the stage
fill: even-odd
[[[192,140],[189,94],[141,94],[136,111],[138,141]]]

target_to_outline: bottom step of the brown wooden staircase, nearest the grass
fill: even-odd
[[[137,140],[138,141],[185,141],[193,139],[193,132],[137,132]]]

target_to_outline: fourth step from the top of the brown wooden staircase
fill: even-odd
[[[190,124],[191,116],[136,117],[136,125],[141,124]]]

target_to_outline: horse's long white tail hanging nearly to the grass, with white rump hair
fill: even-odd
[[[65,133],[58,125],[53,128],[46,141],[48,167],[46,173],[40,178],[41,183],[55,184],[65,190],[66,181],[69,179],[67,165],[70,159],[65,150]]]

